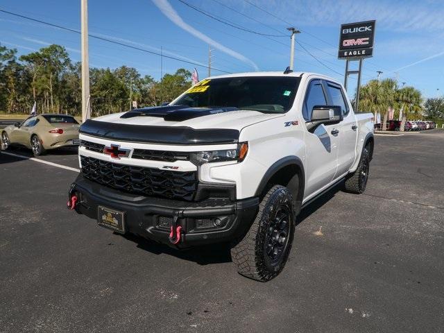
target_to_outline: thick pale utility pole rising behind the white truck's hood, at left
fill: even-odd
[[[91,117],[89,101],[88,0],[81,0],[82,39],[82,121]]]

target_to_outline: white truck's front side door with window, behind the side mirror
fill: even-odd
[[[311,110],[315,105],[327,105],[327,92],[322,80],[311,80],[302,105],[305,121],[311,120]],[[321,125],[311,133],[305,131],[306,144],[306,198],[328,185],[336,173],[338,138],[334,134],[336,125]],[[333,133],[332,133],[333,132]]]

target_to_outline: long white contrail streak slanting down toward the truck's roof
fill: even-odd
[[[178,15],[178,12],[171,7],[170,3],[167,0],[152,0],[155,6],[160,9],[160,11],[173,22],[176,24],[176,26],[179,26],[183,30],[187,31],[191,35],[194,35],[194,37],[197,37],[199,40],[202,40],[203,42],[210,44],[215,49],[218,49],[219,51],[222,51],[223,53],[228,54],[229,56],[232,56],[233,58],[236,58],[237,60],[241,60],[242,62],[246,62],[248,65],[251,65],[256,71],[259,70],[259,67],[253,62],[252,60],[246,58],[246,56],[241,55],[240,53],[237,53],[236,51],[220,44],[219,42],[216,42],[215,40],[212,40],[212,38],[208,37],[204,33],[201,33],[196,28],[193,28],[189,24],[187,24],[182,17]]]

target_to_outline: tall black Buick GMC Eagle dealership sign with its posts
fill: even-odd
[[[344,87],[347,90],[348,76],[358,74],[355,112],[358,112],[359,89],[361,87],[362,60],[373,56],[376,21],[356,22],[341,25],[338,58],[345,59]],[[359,61],[357,71],[350,71],[350,61]]]

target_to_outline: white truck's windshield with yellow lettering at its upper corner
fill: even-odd
[[[235,107],[265,113],[284,113],[293,104],[300,78],[239,76],[200,81],[171,105],[191,108]]]

